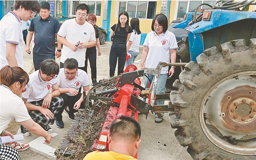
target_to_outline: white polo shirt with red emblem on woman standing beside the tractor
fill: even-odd
[[[170,50],[178,48],[178,44],[175,35],[166,31],[159,36],[155,31],[151,31],[147,34],[143,46],[148,47],[148,55],[146,58],[145,68],[156,68],[159,62],[170,63]],[[168,66],[163,67],[161,74],[168,73]]]

